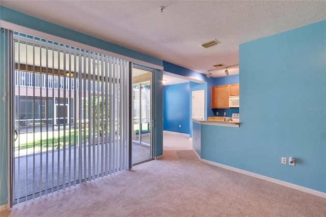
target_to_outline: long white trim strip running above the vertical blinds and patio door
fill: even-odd
[[[145,62],[145,61],[130,58],[130,57],[127,57],[127,56],[124,56],[124,55],[120,55],[119,53],[111,52],[109,50],[103,50],[103,49],[100,49],[98,47],[93,47],[93,46],[90,46],[90,45],[87,45],[87,44],[83,44],[83,43],[76,42],[76,41],[73,41],[73,40],[70,40],[70,39],[66,39],[66,38],[62,38],[62,37],[59,37],[59,36],[51,35],[51,34],[44,33],[44,32],[38,31],[38,30],[33,30],[33,29],[27,28],[25,26],[17,25],[15,23],[11,23],[11,22],[8,22],[8,21],[5,21],[5,20],[0,20],[0,27],[8,29],[8,30],[17,31],[17,32],[21,32],[21,33],[24,33],[24,34],[44,38],[44,39],[51,40],[51,41],[56,41],[56,42],[59,42],[59,43],[67,44],[67,45],[78,47],[78,48],[81,48],[81,49],[86,49],[86,50],[90,50],[90,51],[93,51],[93,52],[101,53],[102,55],[107,55],[107,56],[110,56],[110,57],[119,58],[119,59],[126,60],[126,61],[129,61],[129,62],[132,62],[132,63],[137,63],[137,64],[140,64],[140,65],[152,67],[154,69],[159,69],[159,70],[164,69],[163,66],[159,66],[159,65],[156,65],[156,64],[152,64],[152,63],[148,63],[148,62]]]

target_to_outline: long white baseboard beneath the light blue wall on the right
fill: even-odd
[[[195,150],[194,150],[194,152],[196,153]],[[315,195],[315,196],[326,199],[326,193],[319,192],[319,191],[316,191],[314,189],[303,187],[303,186],[300,186],[300,185],[292,184],[292,183],[282,181],[282,180],[279,180],[279,179],[270,178],[268,176],[263,176],[263,175],[260,175],[260,174],[257,174],[257,173],[252,173],[252,172],[249,172],[249,171],[246,171],[246,170],[241,170],[241,169],[238,169],[238,168],[235,168],[235,167],[230,167],[230,166],[227,166],[227,165],[219,164],[217,162],[213,162],[213,161],[210,161],[210,160],[201,159],[198,156],[197,153],[196,153],[196,155],[200,159],[200,161],[202,161],[202,162],[204,162],[206,164],[210,164],[210,165],[213,165],[213,166],[216,166],[216,167],[231,170],[231,171],[241,173],[241,174],[244,174],[244,175],[252,176],[252,177],[255,177],[255,178],[258,178],[258,179],[263,179],[265,181],[269,181],[269,182],[272,182],[272,183],[275,183],[275,184],[290,187],[290,188],[296,189],[298,191],[305,192],[305,193],[308,193],[308,194]]]

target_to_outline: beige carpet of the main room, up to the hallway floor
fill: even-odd
[[[3,216],[326,216],[326,199],[164,152],[97,181],[19,204]]]

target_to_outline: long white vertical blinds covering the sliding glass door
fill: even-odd
[[[13,39],[13,203],[128,169],[128,61]]]

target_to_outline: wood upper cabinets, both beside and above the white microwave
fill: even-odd
[[[229,108],[229,97],[239,95],[239,84],[212,87],[211,108]]]

